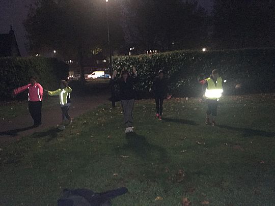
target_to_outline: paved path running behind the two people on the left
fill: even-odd
[[[69,113],[72,117],[77,117],[100,104],[107,103],[107,98],[109,98],[108,94],[74,97]],[[12,121],[0,120],[0,145],[19,140],[21,137],[35,132],[41,132],[49,127],[55,127],[62,122],[61,119],[61,109],[57,105],[52,108],[42,109],[43,124],[38,128],[30,127],[33,125],[33,119],[30,114],[18,116]]]

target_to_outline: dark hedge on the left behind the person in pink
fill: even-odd
[[[12,90],[28,84],[31,76],[36,76],[45,89],[57,89],[59,81],[67,79],[68,71],[68,65],[56,58],[1,57],[0,98],[10,98]]]

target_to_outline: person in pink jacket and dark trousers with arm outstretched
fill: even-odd
[[[39,127],[42,124],[41,110],[43,101],[43,87],[36,81],[36,77],[31,77],[31,83],[13,90],[12,96],[15,97],[19,93],[29,90],[29,111],[34,120],[34,127]]]

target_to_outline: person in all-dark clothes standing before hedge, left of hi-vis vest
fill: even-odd
[[[156,118],[161,120],[163,110],[163,100],[170,99],[171,95],[168,94],[167,80],[163,78],[163,71],[159,70],[158,75],[155,77],[152,85],[152,91],[155,96],[156,102]]]

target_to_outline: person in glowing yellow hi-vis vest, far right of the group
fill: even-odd
[[[207,111],[205,124],[216,126],[217,106],[219,98],[222,97],[223,79],[219,76],[218,70],[213,70],[210,77],[200,81],[202,84],[202,97],[206,99]],[[211,119],[211,120],[210,120]]]

